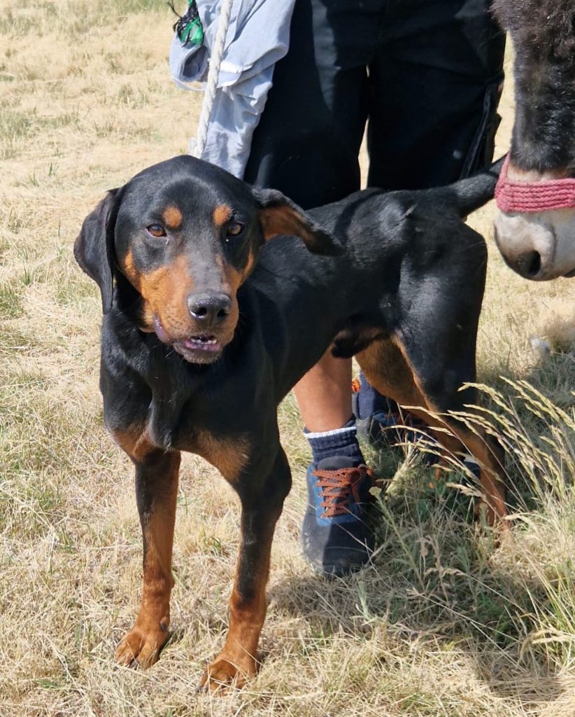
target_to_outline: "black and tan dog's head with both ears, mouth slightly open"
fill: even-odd
[[[341,250],[304,211],[272,189],[252,189],[226,171],[180,156],[109,191],[84,219],[74,256],[102,293],[128,283],[137,322],[195,364],[211,364],[233,338],[237,291],[262,244],[301,237],[317,254]]]

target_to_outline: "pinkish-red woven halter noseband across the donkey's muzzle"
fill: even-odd
[[[575,208],[575,179],[549,181],[513,181],[507,177],[509,155],[506,156],[495,189],[501,212],[547,212],[549,209]]]

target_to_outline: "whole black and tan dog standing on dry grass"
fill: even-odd
[[[168,640],[180,451],[218,467],[241,499],[228,637],[203,677],[214,689],[256,670],[291,485],[276,407],[330,343],[422,417],[475,402],[459,389],[475,380],[486,250],[460,217],[493,196],[496,175],[366,190],[305,214],[180,156],[110,191],[85,219],[74,253],[102,293],[105,424],[135,464],[144,543],[140,614],[120,663],[151,665]],[[503,518],[498,449],[445,424],[451,435],[438,439],[475,455],[488,516]]]

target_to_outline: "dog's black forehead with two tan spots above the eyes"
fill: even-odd
[[[221,225],[237,213],[257,213],[249,187],[228,172],[190,156],[180,156],[137,174],[125,186],[125,217],[162,221],[177,230],[186,223]]]

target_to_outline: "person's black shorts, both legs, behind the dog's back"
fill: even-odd
[[[505,36],[488,0],[296,0],[244,179],[308,209],[448,184],[493,157]]]

